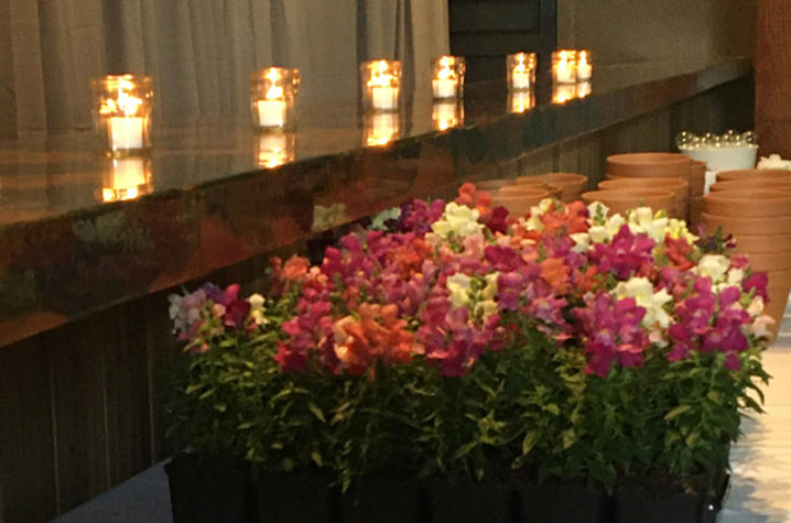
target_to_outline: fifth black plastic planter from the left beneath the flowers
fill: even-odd
[[[574,483],[522,483],[514,486],[519,499],[518,521],[530,523],[609,523],[613,499],[604,491]]]

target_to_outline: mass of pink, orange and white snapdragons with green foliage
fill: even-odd
[[[663,211],[514,217],[465,184],[269,276],[266,299],[171,297],[172,432],[199,451],[344,489],[398,471],[700,492],[761,411],[766,274]]]

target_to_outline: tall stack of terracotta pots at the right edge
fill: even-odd
[[[733,235],[750,266],[769,274],[766,313],[777,328],[791,288],[791,172],[723,171],[711,189],[702,215],[706,232],[720,227]]]

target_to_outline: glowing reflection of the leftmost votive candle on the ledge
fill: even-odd
[[[134,199],[153,189],[151,159],[147,156],[113,157],[102,165],[101,201]]]

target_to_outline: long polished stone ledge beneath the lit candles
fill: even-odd
[[[592,95],[562,105],[539,84],[538,107],[520,115],[507,112],[501,83],[470,85],[464,126],[444,132],[431,129],[430,101],[415,97],[404,138],[378,148],[359,145],[357,119],[331,118],[356,105],[325,108],[328,120],[301,126],[297,139],[312,145],[275,168],[254,166],[249,129],[238,122],[166,130],[152,155],[153,192],[128,201],[97,201],[106,161],[89,133],[0,142],[0,346],[410,198],[447,196],[531,150],[751,70],[746,59],[602,69]]]

